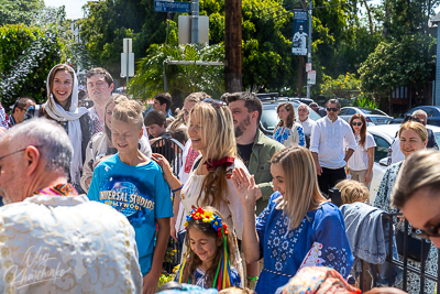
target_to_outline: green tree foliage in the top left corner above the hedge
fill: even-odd
[[[43,8],[43,0],[0,0],[0,26],[4,24],[31,24],[35,14]]]

